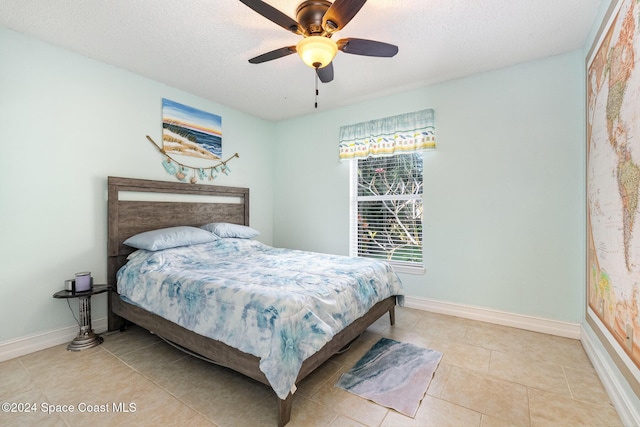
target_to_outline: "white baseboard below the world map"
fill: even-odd
[[[591,364],[600,377],[602,385],[605,390],[607,390],[613,406],[616,408],[616,411],[618,411],[622,425],[640,426],[640,408],[629,399],[628,394],[631,393],[631,391],[628,390],[628,386],[620,383],[618,380],[619,375],[616,375],[612,371],[612,369],[617,369],[617,367],[612,366],[613,362],[605,359],[604,355],[606,355],[606,352],[598,351],[598,347],[594,344],[593,338],[584,326],[582,327],[580,341]]]

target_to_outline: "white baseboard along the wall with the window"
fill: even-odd
[[[579,323],[562,322],[544,319],[542,317],[526,316],[508,313],[470,305],[454,304],[444,301],[430,300],[419,297],[405,297],[405,307],[434,313],[448,314],[465,319],[479,320],[498,325],[511,326],[528,331],[557,335],[565,338],[580,339],[581,326]]]

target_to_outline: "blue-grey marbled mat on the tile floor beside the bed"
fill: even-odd
[[[442,353],[382,338],[336,387],[415,417]]]

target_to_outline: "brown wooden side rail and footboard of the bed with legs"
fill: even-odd
[[[374,305],[369,312],[357,319],[351,325],[338,333],[331,341],[324,345],[317,353],[311,355],[302,363],[296,383],[313,372],[340,349],[349,344],[362,334],[373,322],[384,313],[389,313],[391,324],[395,323],[396,297],[391,296]],[[109,328],[121,329],[124,320],[135,323],[154,334],[171,341],[180,347],[184,347],[211,362],[233,369],[249,378],[253,378],[267,386],[270,386],[267,378],[259,367],[260,359],[251,354],[244,353],[230,347],[223,342],[207,338],[203,335],[189,331],[169,320],[133,304],[124,302],[120,296],[112,291],[109,293]],[[293,395],[286,399],[279,399],[278,426],[284,426],[291,419],[291,406]]]

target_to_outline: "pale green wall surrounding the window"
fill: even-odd
[[[401,275],[407,295],[579,323],[583,88],[577,51],[278,123],[275,244],[347,254],[339,127],[434,108],[427,271]]]

